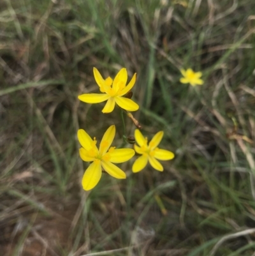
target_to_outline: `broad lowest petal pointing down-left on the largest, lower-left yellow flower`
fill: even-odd
[[[84,177],[82,178],[82,187],[84,190],[91,190],[98,184],[102,176],[102,168],[100,161],[95,161],[89,165],[85,170]]]

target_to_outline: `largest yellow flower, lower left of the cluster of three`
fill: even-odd
[[[133,149],[115,149],[110,147],[115,137],[115,125],[110,126],[101,140],[99,149],[94,140],[82,129],[78,130],[78,140],[80,148],[80,158],[85,162],[92,162],[85,170],[82,178],[84,190],[91,190],[98,184],[102,175],[102,168],[116,179],[126,179],[126,174],[113,163],[123,163],[131,159],[135,151]]]

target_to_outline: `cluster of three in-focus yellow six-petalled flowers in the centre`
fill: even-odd
[[[134,121],[135,118],[128,113],[128,111],[138,110],[139,105],[133,102],[133,100],[128,97],[128,94],[135,85],[136,73],[133,75],[128,85],[126,85],[128,81],[126,68],[122,68],[113,80],[110,77],[103,79],[96,68],[94,68],[93,71],[94,78],[101,93],[82,94],[78,96],[78,99],[85,103],[101,103],[107,101],[102,110],[103,113],[112,112],[115,104],[117,104],[120,109],[126,111],[128,117]],[[138,121],[135,120],[134,123],[138,128],[141,128]],[[140,170],[146,167],[148,162],[154,169],[162,172],[163,166],[158,160],[171,160],[174,158],[174,154],[171,151],[157,147],[163,135],[164,133],[162,131],[157,132],[148,143],[147,137],[143,137],[140,130],[136,129],[135,141],[138,145],[135,144],[135,150],[130,148],[116,149],[116,147],[111,146],[115,137],[115,125],[112,125],[106,130],[98,148],[96,146],[97,141],[95,137],[92,139],[85,130],[78,130],[78,141],[82,146],[79,150],[80,158],[82,158],[84,162],[91,163],[89,167],[87,167],[87,170],[85,170],[84,177],[82,178],[84,190],[91,190],[98,184],[103,170],[116,179],[126,179],[126,173],[114,163],[127,162],[133,158],[135,153],[141,156],[133,163],[133,172],[140,172]]]

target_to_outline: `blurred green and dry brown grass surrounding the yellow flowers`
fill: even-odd
[[[254,11],[251,0],[4,1],[3,255],[252,255]],[[175,153],[163,173],[125,163],[126,180],[103,174],[82,190],[78,128],[101,139],[114,123],[122,143],[119,110],[77,98],[98,93],[93,67],[138,74],[133,115]],[[205,84],[181,84],[182,68]]]

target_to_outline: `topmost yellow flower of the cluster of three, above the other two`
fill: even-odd
[[[126,68],[122,68],[119,73],[117,73],[114,80],[112,80],[110,77],[103,79],[96,68],[93,68],[93,72],[96,83],[103,94],[82,94],[78,96],[79,100],[86,103],[99,103],[107,100],[106,105],[102,110],[103,113],[112,112],[115,107],[115,103],[122,109],[126,109],[128,111],[136,111],[139,109],[139,106],[133,102],[133,100],[123,97],[133,88],[136,80],[136,73],[133,75],[128,86],[126,86],[128,80]]]

